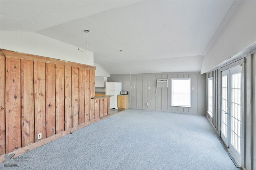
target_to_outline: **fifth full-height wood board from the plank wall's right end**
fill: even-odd
[[[65,75],[65,130],[72,128],[72,81],[71,67],[64,66]]]

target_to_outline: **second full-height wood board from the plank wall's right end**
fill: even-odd
[[[90,70],[85,69],[85,91],[84,91],[85,122],[90,121]]]

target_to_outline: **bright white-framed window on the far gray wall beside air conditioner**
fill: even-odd
[[[171,106],[191,107],[191,78],[172,78]]]

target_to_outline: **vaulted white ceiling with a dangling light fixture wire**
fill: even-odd
[[[0,30],[36,32],[82,49],[84,30],[92,30],[88,50],[110,74],[198,72],[234,2],[1,0]]]

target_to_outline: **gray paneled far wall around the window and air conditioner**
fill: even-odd
[[[191,107],[171,106],[171,79],[191,78]],[[130,79],[130,82],[127,80]],[[158,88],[156,79],[168,79],[168,88]],[[175,113],[206,114],[206,74],[199,72],[162,74],[114,74],[108,81],[122,82],[122,88],[130,92],[130,107]],[[124,88],[125,87],[125,88]],[[134,88],[135,87],[135,88]],[[150,87],[150,89],[148,88]],[[156,97],[154,98],[156,94]],[[154,98],[154,100],[152,100]],[[152,100],[148,102],[149,100]],[[146,103],[148,102],[148,106]]]

